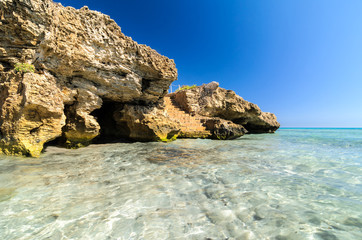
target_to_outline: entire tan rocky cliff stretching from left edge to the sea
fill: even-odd
[[[19,63],[35,70],[14,70]],[[102,139],[231,139],[279,127],[274,115],[214,83],[165,97],[177,79],[174,61],[87,7],[1,0],[0,72],[6,154],[39,156],[54,139],[73,148]]]

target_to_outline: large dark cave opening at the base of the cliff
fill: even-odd
[[[102,107],[94,110],[94,116],[100,125],[100,134],[92,140],[92,143],[125,142],[129,134],[128,128],[118,124],[114,120],[114,113],[120,111],[122,104],[103,100]]]

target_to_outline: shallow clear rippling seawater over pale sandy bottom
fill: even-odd
[[[0,239],[362,239],[362,130],[0,157]]]

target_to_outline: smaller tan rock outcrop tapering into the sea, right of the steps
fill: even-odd
[[[217,117],[242,125],[249,133],[275,132],[280,124],[272,113],[265,113],[234,91],[219,87],[217,82],[178,91],[171,98],[186,112]]]

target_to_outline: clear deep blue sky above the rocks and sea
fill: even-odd
[[[57,2],[174,59],[174,85],[217,81],[282,127],[362,127],[361,0]]]

